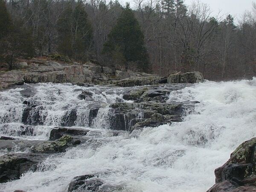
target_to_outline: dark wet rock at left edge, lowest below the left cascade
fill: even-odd
[[[0,183],[19,179],[20,176],[31,170],[36,170],[36,165],[47,158],[47,154],[13,153],[0,157]]]

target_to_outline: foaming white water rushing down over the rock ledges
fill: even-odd
[[[61,116],[70,108],[77,108],[81,115],[76,126],[88,126],[82,119],[88,116],[90,102],[77,99],[79,92],[74,91],[81,87],[70,84],[34,87],[36,93],[30,99],[44,106],[46,118],[44,125],[35,126],[34,136],[26,139],[48,137],[49,131],[42,128],[50,130],[51,126],[60,125]],[[51,155],[37,172],[27,172],[19,180],[1,184],[0,189],[64,192],[73,177],[97,174],[104,185],[120,186],[123,192],[204,192],[215,183],[214,169],[224,164],[240,143],[256,137],[256,79],[205,81],[173,91],[169,101],[200,103],[192,112],[184,113],[183,122],[144,128],[131,134],[136,137],[125,131],[113,136],[106,129],[107,104],[121,98],[124,88],[87,89],[94,92],[94,98],[106,103],[93,120],[86,136],[90,139],[66,153]],[[0,100],[5,101],[0,106],[1,132],[5,130],[3,125],[20,123],[25,99],[19,89],[0,93]],[[10,133],[3,134],[15,135]]]

